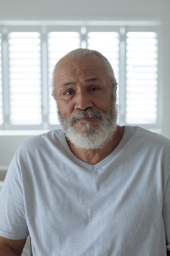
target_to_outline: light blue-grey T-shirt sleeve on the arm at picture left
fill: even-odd
[[[15,154],[0,192],[0,236],[19,240],[28,235],[22,175]]]

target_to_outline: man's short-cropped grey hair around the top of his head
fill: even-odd
[[[111,81],[112,84],[112,88],[115,88],[117,85],[117,81],[115,79],[115,74],[113,72],[113,68],[110,65],[110,62],[108,61],[108,59],[106,57],[104,57],[103,54],[101,54],[100,52],[97,52],[95,50],[90,50],[90,49],[83,49],[83,48],[78,48],[75,49],[71,52],[68,52],[66,55],[64,55],[62,58],[60,58],[60,60],[56,63],[54,69],[53,69],[53,74],[52,74],[52,96],[54,97],[54,99],[56,100],[56,95],[55,95],[55,70],[58,66],[58,64],[66,57],[69,56],[73,59],[81,59],[84,58],[86,56],[89,55],[95,55],[97,57],[100,58],[100,60],[102,61],[103,65],[104,65],[104,70],[106,72],[106,75],[108,76],[108,78]]]

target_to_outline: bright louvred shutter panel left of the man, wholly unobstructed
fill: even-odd
[[[38,32],[9,33],[10,123],[42,123],[41,49]]]

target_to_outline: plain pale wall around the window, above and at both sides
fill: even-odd
[[[162,134],[170,138],[170,0],[0,0],[0,20],[162,20]],[[0,165],[8,165],[25,137],[0,137]]]

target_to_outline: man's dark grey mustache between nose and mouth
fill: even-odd
[[[103,115],[101,112],[93,109],[85,109],[85,110],[77,110],[77,113],[70,118],[70,123],[73,125],[75,122],[77,122],[79,119],[82,118],[96,118],[96,119],[103,119]]]

